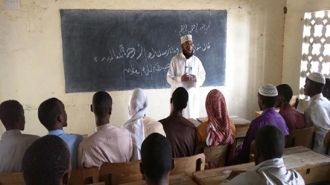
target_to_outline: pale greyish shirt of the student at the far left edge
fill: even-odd
[[[23,155],[39,136],[22,134],[19,130],[9,130],[0,139],[0,172],[21,172]]]

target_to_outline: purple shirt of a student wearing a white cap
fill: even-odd
[[[283,117],[276,112],[274,107],[263,110],[261,116],[252,120],[250,123],[242,148],[236,151],[236,164],[249,162],[250,144],[255,139],[257,131],[265,125],[274,125],[279,128],[285,136],[289,135],[289,129],[287,128]]]

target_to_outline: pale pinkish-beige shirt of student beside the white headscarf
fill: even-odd
[[[81,141],[78,148],[78,168],[100,167],[103,163],[129,162],[133,155],[128,130],[108,123],[96,127],[96,132]]]

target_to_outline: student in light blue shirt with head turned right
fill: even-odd
[[[79,134],[64,133],[63,127],[68,126],[64,104],[57,98],[45,100],[38,108],[38,118],[48,130],[47,135],[57,135],[68,144],[72,168],[78,168],[78,146],[83,137]]]

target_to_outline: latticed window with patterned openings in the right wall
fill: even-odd
[[[330,11],[305,13],[300,77],[300,98],[306,99],[304,85],[310,72],[330,77]]]

